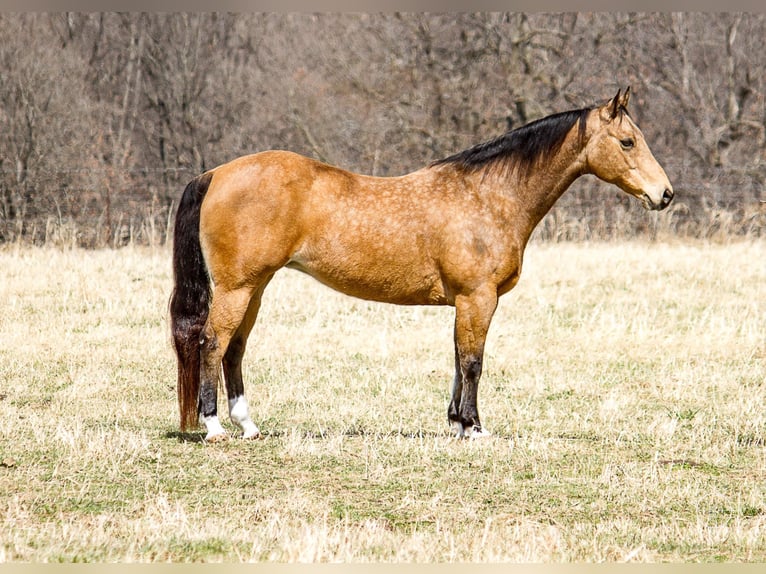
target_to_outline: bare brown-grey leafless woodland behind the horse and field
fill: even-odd
[[[581,178],[536,237],[766,227],[764,14],[2,13],[0,38],[0,243],[164,243],[236,156],[399,175],[627,85],[676,202]]]

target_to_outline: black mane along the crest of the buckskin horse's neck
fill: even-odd
[[[493,140],[437,160],[431,166],[452,165],[466,172],[498,169],[504,175],[513,171],[526,174],[544,157],[556,153],[569,130],[578,122],[582,145],[585,122],[591,109],[570,110],[535,120]]]

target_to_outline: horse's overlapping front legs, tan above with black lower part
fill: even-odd
[[[455,378],[448,417],[458,437],[489,434],[479,419],[478,391],[484,343],[496,308],[494,286],[455,298]]]

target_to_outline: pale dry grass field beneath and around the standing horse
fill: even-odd
[[[245,356],[265,439],[180,434],[169,259],[0,250],[0,561],[766,560],[764,241],[531,245],[479,441],[451,308],[291,271]]]

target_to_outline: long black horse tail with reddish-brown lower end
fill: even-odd
[[[200,337],[210,308],[210,275],[199,238],[200,207],[212,173],[195,177],[186,186],[173,231],[173,293],[170,322],[178,359],[178,408],[181,430],[198,424]]]

